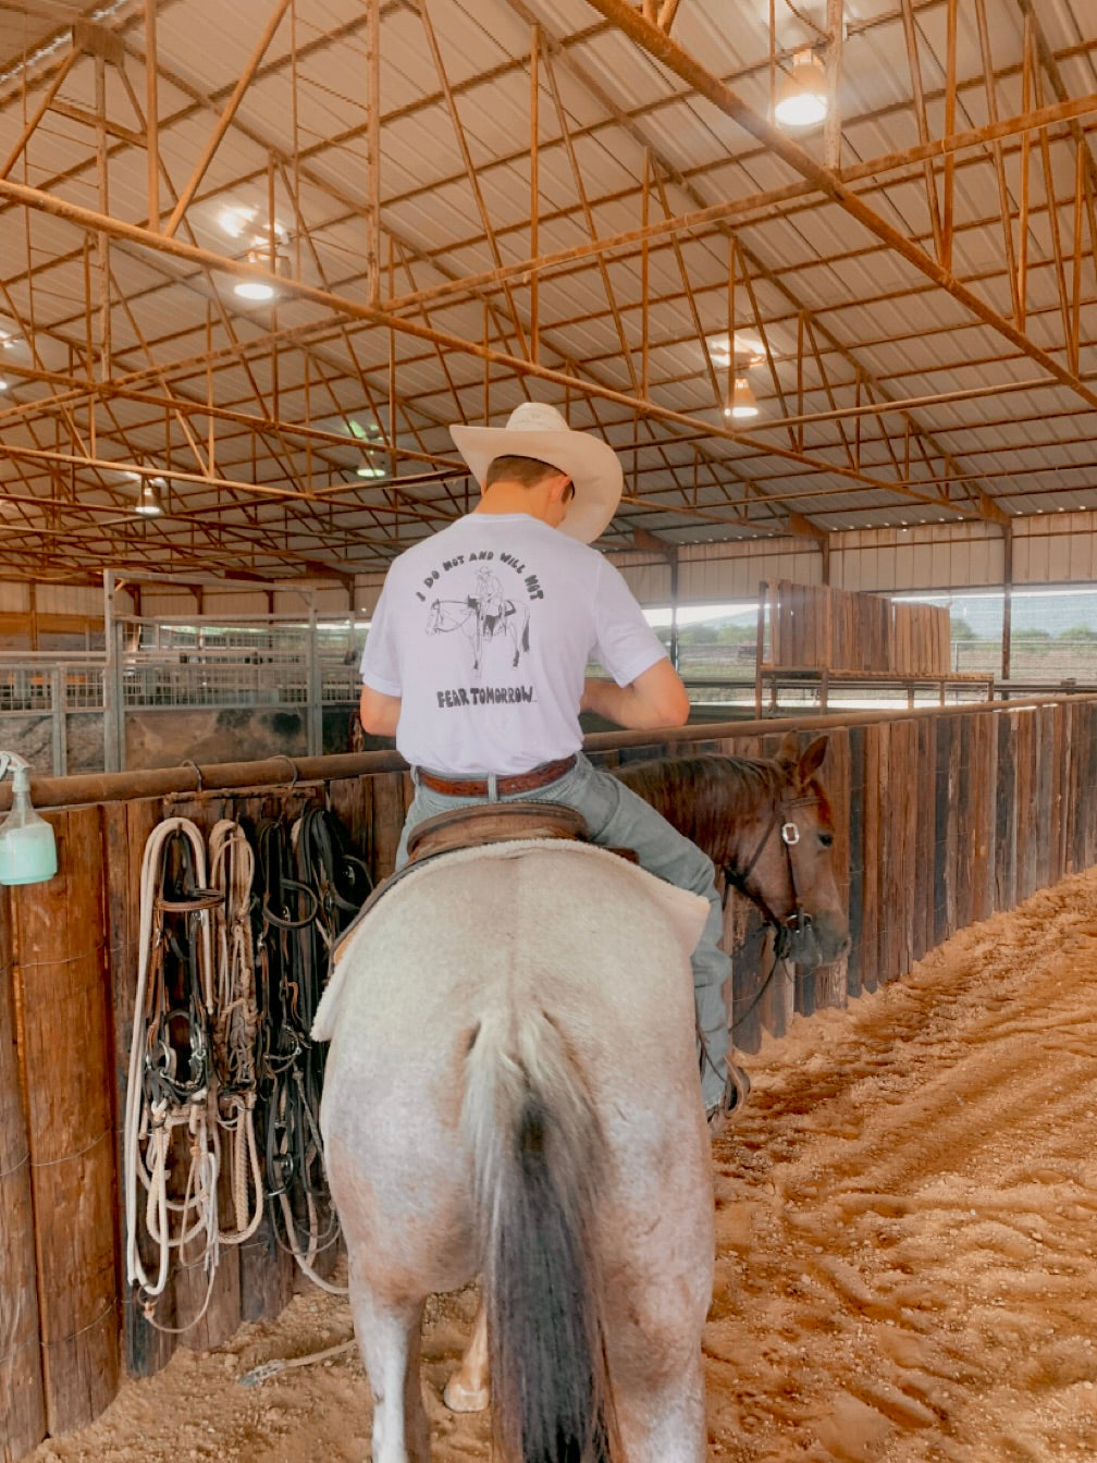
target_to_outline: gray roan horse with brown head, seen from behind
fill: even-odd
[[[721,860],[834,958],[822,751],[724,759],[739,831]],[[344,938],[314,1034],[332,1039],[320,1127],[373,1463],[427,1463],[424,1301],[477,1273],[500,1460],[704,1460],[705,913],[613,853],[522,841],[412,866]]]

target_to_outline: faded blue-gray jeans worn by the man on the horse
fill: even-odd
[[[414,777],[414,772],[412,772]],[[448,797],[415,781],[415,797],[404,821],[396,868],[408,859],[408,834],[415,824],[465,803],[486,797]],[[693,951],[693,996],[698,1008],[698,1061],[705,1107],[715,1107],[727,1081],[727,1002],[724,988],[731,974],[731,957],[720,948],[724,910],[715,887],[712,860],[638,797],[579,753],[570,772],[532,793],[516,793],[500,802],[563,803],[587,819],[591,840],[606,849],[635,849],[642,868],[708,900],[708,919]]]

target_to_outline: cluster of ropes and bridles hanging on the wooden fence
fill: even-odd
[[[275,1238],[301,1271],[345,1295],[316,1270],[339,1226],[319,1128],[325,1052],[309,1033],[332,945],[370,878],[339,819],[309,808],[293,830],[265,819],[255,843],[221,819],[209,885],[197,827],[165,819],[142,859],[123,1134],[127,1279],[164,1331],[205,1315],[221,1245],[255,1235],[268,1204]],[[218,1208],[222,1166],[231,1216]],[[181,1200],[168,1192],[180,1173]],[[181,1327],[154,1314],[173,1258],[208,1276],[200,1311]]]

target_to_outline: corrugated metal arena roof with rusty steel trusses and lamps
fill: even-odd
[[[0,342],[0,506],[26,499],[25,531],[0,547],[4,572],[79,576],[111,553],[136,572],[151,562],[142,544],[162,556],[173,535],[202,553],[195,514],[219,571],[218,525],[247,525],[227,503],[255,483],[285,494],[253,505],[256,562],[272,576],[306,559],[376,571],[396,516],[408,543],[453,512],[455,483],[464,492],[449,423],[499,423],[529,395],[569,405],[622,451],[608,547],[636,528],[682,543],[774,533],[790,512],[834,533],[920,516],[989,516],[998,531],[1003,515],[1097,503],[1097,13],[1082,0],[1038,7],[1028,60],[1019,0],[986,0],[990,75],[973,7],[957,10],[949,60],[946,4],[913,0],[917,78],[900,0],[845,0],[841,171],[823,129],[796,139],[831,168],[822,186],[587,0],[429,0],[430,32],[414,7],[379,0],[379,234],[370,4],[310,0],[293,25],[287,15],[228,117],[272,4],[170,0],[158,6],[159,214],[192,198],[174,230],[202,250],[189,259],[140,231],[143,7],[53,10],[56,26],[0,18],[0,162],[70,59],[60,25],[99,12],[101,26],[15,157],[9,178],[44,196],[23,208],[0,183],[0,331],[12,338]],[[771,63],[768,12],[749,0],[728,26],[724,0],[682,0],[671,31],[762,120],[796,50],[826,56],[822,7],[778,7]],[[529,20],[543,42],[535,246]],[[37,54],[42,42],[53,48]],[[25,70],[4,79],[23,51]],[[951,72],[955,130],[995,116],[1005,126],[946,167]],[[1043,132],[1015,120],[1038,107],[1058,108]],[[269,260],[271,199],[284,284],[275,301],[246,303],[218,262],[249,249]],[[88,227],[51,212],[66,203]],[[105,233],[92,227],[101,214]],[[295,297],[295,279],[325,298]],[[759,404],[749,424],[723,411],[730,309],[737,335],[758,338],[734,363]],[[339,426],[355,411],[392,426],[395,486],[357,478],[363,448]],[[95,461],[178,474],[151,537],[113,527],[133,486]],[[88,508],[104,534],[94,553],[76,534]]]

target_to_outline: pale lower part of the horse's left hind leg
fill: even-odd
[[[373,1463],[430,1463],[418,1375],[423,1299],[393,1305],[351,1271],[354,1334],[373,1391]]]

